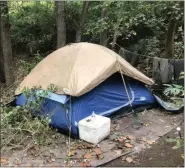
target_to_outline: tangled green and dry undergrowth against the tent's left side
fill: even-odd
[[[53,88],[53,87],[51,87]],[[25,89],[27,100],[31,98],[35,90]],[[48,91],[43,92],[47,96]],[[55,145],[62,143],[65,136],[49,126],[51,116],[33,115],[39,112],[44,98],[34,95],[35,103],[26,102],[24,106],[1,107],[1,152],[12,149],[26,151],[31,145]]]

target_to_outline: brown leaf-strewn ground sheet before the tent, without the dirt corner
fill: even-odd
[[[100,166],[123,155],[133,156],[136,153],[142,153],[144,150],[150,150],[147,148],[152,145],[147,141],[155,143],[160,137],[179,126],[182,121],[182,113],[169,115],[159,109],[145,110],[138,114],[134,123],[132,115],[113,120],[110,136],[97,147],[72,139],[71,157],[68,157],[68,145],[66,143],[58,143],[55,147],[41,146],[40,149],[32,151],[32,154],[24,152],[25,150],[14,150],[2,157],[8,158],[7,166],[15,165],[16,160],[19,160],[19,166],[30,164],[32,166],[80,166],[82,164]],[[133,124],[137,127],[133,127]],[[121,138],[124,141],[120,141]],[[67,137],[66,142],[68,142]],[[133,147],[125,147],[125,143],[132,144]]]

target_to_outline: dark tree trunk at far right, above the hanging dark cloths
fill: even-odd
[[[166,46],[165,46],[165,58],[172,58],[174,54],[174,34],[176,28],[176,20],[174,19],[174,13],[171,14],[168,31],[166,35]]]

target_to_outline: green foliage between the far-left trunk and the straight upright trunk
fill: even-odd
[[[56,44],[54,4],[25,2],[15,8],[14,3],[10,2],[9,10],[14,50],[31,55],[53,50]]]

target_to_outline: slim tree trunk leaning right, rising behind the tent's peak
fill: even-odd
[[[82,12],[81,12],[81,20],[80,20],[80,25],[78,26],[78,29],[76,31],[76,42],[80,42],[81,41],[81,37],[82,37],[82,31],[85,25],[85,19],[87,16],[87,12],[89,9],[89,1],[84,1],[83,2],[83,7],[82,7]]]

